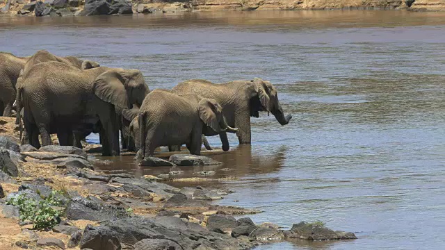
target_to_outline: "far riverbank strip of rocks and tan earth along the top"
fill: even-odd
[[[376,9],[443,11],[445,0],[0,0],[0,14],[40,16],[149,14],[214,10]]]

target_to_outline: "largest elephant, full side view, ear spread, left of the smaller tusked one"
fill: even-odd
[[[29,144],[40,147],[39,133],[42,144],[46,146],[51,144],[49,134],[54,129],[58,136],[59,133],[69,135],[69,131],[100,122],[102,154],[118,156],[120,147],[115,106],[130,108],[133,103],[140,105],[149,89],[143,75],[136,69],[96,67],[81,70],[65,63],[46,62],[34,65],[24,74],[23,84],[17,92],[17,104],[23,103],[24,107]],[[59,136],[60,145],[72,144],[70,138],[65,137]]]

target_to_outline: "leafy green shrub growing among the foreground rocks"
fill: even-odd
[[[33,223],[34,229],[53,228],[60,222],[60,214],[63,211],[57,210],[54,206],[60,206],[61,201],[56,198],[55,191],[42,201],[35,201],[20,194],[18,197],[10,199],[7,204],[19,208],[20,219]]]

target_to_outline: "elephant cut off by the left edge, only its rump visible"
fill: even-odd
[[[28,59],[0,52],[0,116],[12,115],[17,78]]]

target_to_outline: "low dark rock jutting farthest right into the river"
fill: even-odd
[[[320,224],[300,222],[293,224],[289,238],[299,238],[304,240],[353,240],[357,239],[354,233],[343,231],[333,231]]]

